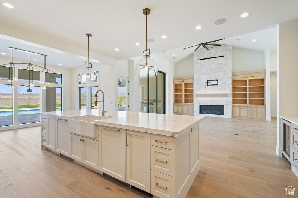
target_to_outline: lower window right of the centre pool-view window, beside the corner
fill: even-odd
[[[62,88],[47,87],[45,90],[45,107],[46,112],[61,111],[62,109]]]

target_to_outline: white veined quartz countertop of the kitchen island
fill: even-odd
[[[98,120],[95,120],[95,124],[97,125],[173,137],[181,136],[204,119],[203,116],[139,113],[131,111],[108,111],[105,113],[105,117],[102,117],[101,110],[98,111],[98,109],[53,111],[39,114],[60,119],[94,115],[99,117]]]

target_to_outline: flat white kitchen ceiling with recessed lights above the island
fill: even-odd
[[[15,8],[0,5],[0,26],[18,29],[20,37],[65,43],[71,48],[90,51],[114,59],[142,55],[145,49],[144,8],[148,15],[148,43],[151,53],[182,48],[206,41],[234,37],[276,27],[278,23],[298,18],[297,0],[171,0],[171,1],[79,1],[79,0],[9,0]],[[249,12],[246,18],[239,16]],[[226,23],[214,25],[219,18]],[[202,29],[196,30],[196,26]],[[7,31],[0,28],[0,34]],[[162,35],[167,35],[162,39]],[[136,46],[138,42],[141,45]],[[38,43],[36,41],[36,43]],[[40,43],[38,43],[40,44]],[[119,48],[119,51],[115,51]]]

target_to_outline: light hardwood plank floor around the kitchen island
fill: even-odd
[[[276,155],[276,128],[276,118],[206,117],[200,125],[200,171],[187,197],[288,197],[285,188],[298,187],[298,179]],[[149,197],[41,150],[40,139],[40,127],[0,132],[0,197]]]

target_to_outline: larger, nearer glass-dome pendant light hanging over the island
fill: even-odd
[[[145,8],[143,14],[146,15],[146,50],[143,51],[143,57],[136,63],[134,75],[139,77],[154,77],[158,76],[158,69],[156,62],[150,58],[150,48],[147,49],[147,15],[150,14],[150,9]]]

